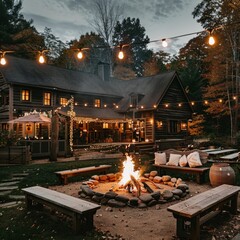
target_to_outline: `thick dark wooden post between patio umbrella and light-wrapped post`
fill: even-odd
[[[52,116],[52,129],[51,129],[51,150],[50,161],[57,161],[58,153],[58,135],[59,135],[59,119],[56,112]]]

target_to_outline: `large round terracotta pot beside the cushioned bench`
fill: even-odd
[[[222,184],[235,184],[235,172],[227,163],[214,163],[210,167],[209,178],[213,187]]]

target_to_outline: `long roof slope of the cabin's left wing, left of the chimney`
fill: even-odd
[[[118,92],[97,75],[72,71],[37,61],[6,56],[7,64],[0,67],[7,83],[47,87],[86,94],[119,96]],[[101,84],[100,84],[101,83]]]

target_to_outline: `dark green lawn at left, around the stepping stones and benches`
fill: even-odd
[[[28,173],[28,176],[18,184],[19,189],[11,194],[22,195],[21,189],[34,185],[48,187],[59,185],[59,180],[54,174],[55,171],[87,167],[92,165],[111,164],[112,172],[117,172],[119,159],[102,159],[74,162],[51,162],[46,164],[30,164],[21,166],[6,166],[0,168],[0,182],[10,179],[14,173]],[[69,182],[87,179],[91,174],[73,177]],[[10,201],[7,197],[0,196],[0,203]],[[86,235],[74,235],[69,227],[68,219],[56,218],[55,214],[43,211],[27,211],[25,203],[11,208],[0,208],[0,239],[106,239],[104,233],[93,230]]]

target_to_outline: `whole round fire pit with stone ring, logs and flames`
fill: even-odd
[[[159,176],[157,171],[141,174],[134,170],[132,157],[127,156],[121,173],[93,175],[82,182],[79,195],[111,207],[150,207],[179,200],[188,193],[188,185],[180,178]]]

